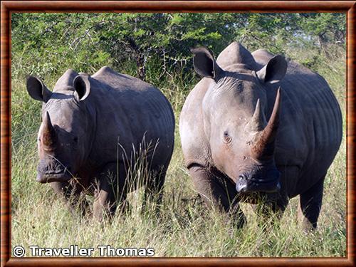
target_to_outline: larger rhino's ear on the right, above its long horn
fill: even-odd
[[[278,83],[286,75],[287,61],[283,56],[274,56],[267,65],[256,72],[263,83]]]

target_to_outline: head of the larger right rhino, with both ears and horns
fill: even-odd
[[[285,58],[275,56],[256,71],[244,64],[223,69],[206,48],[192,53],[197,73],[211,79],[202,112],[214,164],[234,181],[237,192],[278,191],[281,174],[274,149],[281,92],[273,83],[286,74]],[[268,107],[267,90],[273,90],[273,108]]]

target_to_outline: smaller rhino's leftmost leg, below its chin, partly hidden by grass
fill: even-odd
[[[75,211],[79,208],[80,213],[85,215],[85,211],[88,208],[88,201],[81,197],[80,192],[82,192],[82,188],[80,185],[75,184],[75,186],[73,186],[69,182],[51,182],[51,187],[56,194],[63,197],[63,200],[68,205],[68,209],[72,214],[75,214]]]

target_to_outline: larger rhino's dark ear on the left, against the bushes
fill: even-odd
[[[191,51],[194,54],[193,63],[195,71],[202,77],[213,78],[215,81],[219,80],[224,70],[214,61],[211,53],[204,47],[194,48]]]

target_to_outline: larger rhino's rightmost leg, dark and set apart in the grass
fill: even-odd
[[[308,191],[300,194],[298,217],[302,222],[304,231],[310,231],[317,227],[323,202],[324,179],[325,176]]]

